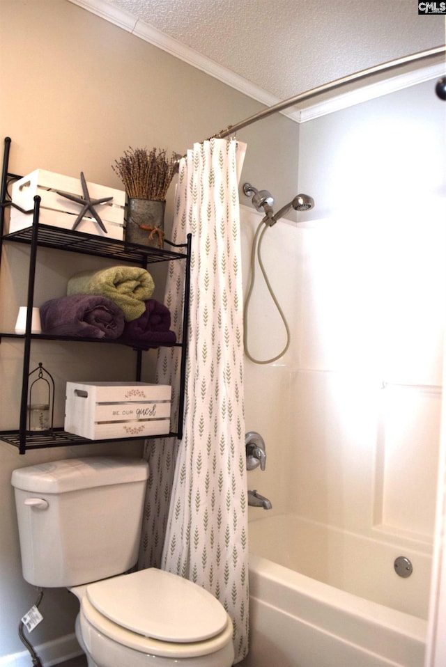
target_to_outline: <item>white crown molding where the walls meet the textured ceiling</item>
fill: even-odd
[[[119,28],[132,33],[135,37],[149,42],[153,46],[162,49],[162,51],[179,58],[188,65],[192,65],[192,67],[209,74],[210,77],[222,81],[226,86],[230,86],[236,91],[239,91],[248,97],[252,97],[253,100],[261,102],[261,104],[265,104],[266,107],[272,107],[274,104],[282,102],[282,100],[279,100],[275,95],[271,95],[267,91],[264,91],[263,88],[252,84],[251,81],[248,81],[244,77],[235,74],[235,72],[215,63],[215,61],[210,58],[202,56],[197,51],[194,51],[194,49],[185,46],[181,42],[178,42],[178,40],[169,37],[166,33],[153,28],[153,26],[141,21],[141,19],[135,18],[128,12],[117,8],[106,0],[68,0],[68,2],[78,5]],[[414,70],[413,72],[406,72],[383,81],[363,85],[361,88],[348,91],[347,93],[334,93],[330,99],[319,102],[318,104],[310,103],[300,109],[296,109],[295,107],[293,109],[291,107],[290,109],[285,109],[279,113],[282,113],[282,115],[287,118],[291,118],[295,123],[305,123],[308,120],[327,116],[330,113],[334,113],[334,111],[347,109],[348,107],[353,107],[361,102],[374,100],[376,97],[382,97],[389,93],[401,91],[403,88],[409,88],[410,86],[415,86],[424,81],[443,76],[444,70],[444,63],[426,66]]]

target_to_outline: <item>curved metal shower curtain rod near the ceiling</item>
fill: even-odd
[[[330,81],[330,83],[328,84],[323,84],[323,86],[312,88],[311,91],[300,93],[300,95],[295,95],[294,97],[289,97],[288,100],[284,100],[284,102],[278,102],[277,104],[274,104],[272,107],[263,109],[263,111],[255,113],[254,116],[249,116],[249,118],[241,120],[240,123],[236,123],[235,125],[228,125],[228,127],[226,127],[224,130],[220,130],[220,132],[214,134],[213,137],[217,139],[224,139],[224,137],[230,136],[231,134],[234,134],[238,130],[242,130],[243,127],[247,127],[247,125],[252,125],[252,123],[256,123],[257,120],[262,120],[263,118],[272,116],[273,113],[284,111],[284,109],[288,109],[288,107],[293,107],[293,105],[298,104],[298,102],[304,102],[305,100],[310,100],[312,97],[316,97],[316,95],[321,95],[321,93],[332,91],[334,90],[334,88],[339,88],[340,86],[344,86],[344,84],[349,84],[351,81],[358,81],[360,79],[365,79],[367,77],[370,77],[372,74],[376,74],[377,72],[385,72],[386,70],[391,70],[401,65],[406,65],[407,63],[410,63],[412,61],[424,60],[424,58],[431,58],[432,56],[438,56],[439,54],[445,52],[446,52],[446,46],[435,47],[433,49],[429,49],[428,51],[420,51],[415,54],[410,54],[409,56],[403,56],[402,58],[397,58],[396,60],[387,61],[387,63],[381,63],[380,65],[375,65],[374,67],[368,68],[367,70],[361,70],[360,72],[355,72],[354,74],[348,74],[348,76],[342,77],[341,79],[335,79],[334,81]]]

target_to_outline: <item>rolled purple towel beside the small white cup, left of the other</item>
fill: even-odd
[[[124,313],[114,301],[97,295],[50,299],[40,306],[43,334],[84,338],[119,338]]]

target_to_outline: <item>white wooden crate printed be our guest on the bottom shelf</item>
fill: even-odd
[[[146,382],[67,382],[68,433],[91,440],[168,434],[171,386]]]

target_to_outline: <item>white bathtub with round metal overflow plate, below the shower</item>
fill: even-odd
[[[407,579],[397,556],[413,563]],[[251,521],[243,666],[422,667],[429,577],[417,551],[293,515]]]

